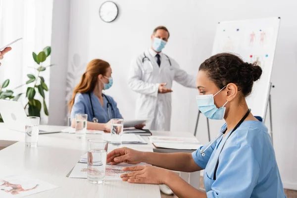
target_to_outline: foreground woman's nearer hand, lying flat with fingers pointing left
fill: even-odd
[[[171,171],[156,166],[130,166],[123,171],[133,171],[121,174],[123,181],[141,184],[165,184],[165,179]]]

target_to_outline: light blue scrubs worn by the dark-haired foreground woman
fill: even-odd
[[[207,198],[286,198],[267,127],[261,117],[256,118],[259,121],[243,122],[228,138],[219,156],[216,180],[215,164],[230,133],[209,147],[205,156],[200,150],[207,145],[192,153],[197,165],[205,169]]]

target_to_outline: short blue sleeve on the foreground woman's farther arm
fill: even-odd
[[[194,152],[192,152],[192,157],[193,157],[194,161],[202,169],[205,169],[206,164],[207,164],[207,162],[212,154],[212,151],[216,145],[216,144],[211,145],[207,150],[205,150],[205,152],[204,152],[205,156],[202,156],[200,153],[200,150],[204,150],[208,146],[208,144],[204,145],[204,146],[200,147],[199,149],[195,150]]]

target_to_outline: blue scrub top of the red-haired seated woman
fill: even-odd
[[[108,112],[107,112],[107,103],[108,100],[111,103],[111,106],[109,105],[109,115],[110,118],[108,116]],[[116,102],[114,101],[114,99],[110,96],[107,96],[104,94],[103,96],[103,102],[104,105],[101,106],[99,99],[97,98],[97,96],[94,95],[94,93],[91,93],[91,99],[92,99],[92,104],[93,104],[93,108],[94,108],[94,113],[95,113],[95,117],[98,119],[99,123],[106,123],[108,122],[110,119],[112,118],[123,118],[122,115],[120,114],[119,109],[116,106]],[[112,117],[112,109],[113,108],[113,112],[114,112],[114,117]],[[74,99],[74,104],[72,106],[71,109],[71,118],[75,118],[76,114],[88,114],[88,121],[93,122],[93,111],[92,111],[92,106],[91,106],[91,101],[90,101],[90,97],[89,94],[76,94],[75,99]]]

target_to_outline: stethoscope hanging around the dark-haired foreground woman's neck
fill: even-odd
[[[217,161],[216,161],[216,164],[215,164],[215,167],[214,167],[214,172],[213,172],[213,180],[216,180],[216,172],[217,172],[217,169],[218,169],[218,165],[219,165],[219,157],[220,157],[220,154],[221,154],[221,152],[222,152],[222,150],[223,150],[223,148],[224,148],[224,146],[225,146],[225,144],[226,144],[226,142],[227,142],[227,140],[228,140],[228,138],[232,135],[232,133],[245,121],[245,119],[247,118],[247,116],[248,116],[248,114],[250,113],[250,109],[248,109],[248,111],[247,111],[247,113],[244,115],[244,117],[239,121],[239,123],[237,123],[237,125],[234,127],[234,129],[230,132],[230,135],[227,137],[227,139],[226,139],[226,141],[225,141],[225,143],[223,144],[223,147],[222,147],[222,149],[221,149],[221,151],[219,152],[219,156],[218,156],[218,159],[217,159]],[[215,141],[217,141],[222,135],[224,135],[225,133],[226,133],[226,131],[227,131],[227,128],[223,131],[223,132],[221,132],[213,141],[211,141],[210,143],[209,143],[209,145],[206,147],[206,148],[204,148],[202,151],[200,151],[200,154],[202,155],[202,156],[205,156],[205,151],[211,146],[211,145],[213,145],[213,143],[215,143]],[[222,141],[222,140],[221,140]]]

